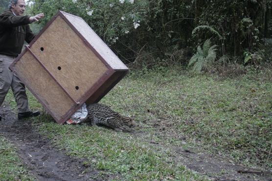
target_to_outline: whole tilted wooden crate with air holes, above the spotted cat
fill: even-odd
[[[58,122],[100,101],[128,72],[80,17],[59,11],[10,69]]]

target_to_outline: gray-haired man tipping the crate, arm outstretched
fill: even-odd
[[[43,13],[33,17],[23,16],[24,10],[24,0],[10,0],[9,10],[0,14],[0,105],[11,87],[19,120],[40,115],[39,111],[29,110],[25,86],[8,68],[21,53],[24,41],[30,43],[35,37],[29,24],[44,17]]]

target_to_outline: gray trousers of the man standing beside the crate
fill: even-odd
[[[30,111],[23,82],[8,68],[16,57],[0,54],[0,105],[11,87],[19,113]]]

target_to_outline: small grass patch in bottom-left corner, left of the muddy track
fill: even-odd
[[[34,181],[26,170],[16,149],[3,136],[0,136],[0,178],[1,181]]]

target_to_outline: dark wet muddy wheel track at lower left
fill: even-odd
[[[97,175],[97,170],[54,148],[33,129],[30,121],[18,121],[17,115],[3,106],[0,133],[18,148],[19,156],[39,181],[86,181]],[[81,174],[83,171],[87,173]]]

